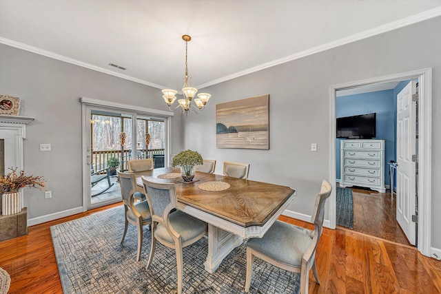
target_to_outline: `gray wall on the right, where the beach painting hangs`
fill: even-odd
[[[207,87],[212,98],[203,113],[187,117],[185,147],[218,160],[216,174],[224,160],[249,162],[250,180],[296,188],[289,209],[310,215],[329,176],[329,86],[433,67],[431,246],[441,248],[439,28],[441,17]],[[269,94],[270,149],[216,149],[216,104],[263,94]],[[311,143],[317,152],[309,151]]]

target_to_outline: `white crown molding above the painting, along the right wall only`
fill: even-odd
[[[268,63],[263,63],[261,65],[255,66],[255,67],[251,67],[247,70],[243,70],[241,72],[236,72],[235,74],[230,74],[229,76],[224,76],[223,78],[217,78],[216,80],[209,81],[209,82],[201,84],[201,85],[197,85],[196,88],[201,89],[204,87],[209,87],[211,85],[216,85],[218,83],[232,80],[233,78],[238,78],[239,76],[245,76],[247,74],[252,74],[253,72],[258,72],[259,70],[265,70],[265,68],[268,68],[268,67],[280,65],[282,63],[287,63],[289,61],[294,61],[296,59],[301,59],[302,57],[316,54],[319,52],[323,52],[323,51],[326,51],[326,50],[329,50],[332,48],[336,48],[341,45],[346,45],[348,43],[360,41],[362,39],[367,39],[371,36],[376,36],[376,35],[382,34],[384,32],[390,32],[391,30],[403,28],[403,27],[405,27],[407,25],[411,25],[413,23],[427,21],[428,19],[433,19],[434,17],[439,17],[440,15],[441,15],[441,6],[438,8],[434,8],[432,10],[427,10],[425,12],[415,14],[415,15],[413,15],[411,17],[407,17],[405,19],[400,19],[398,21],[393,21],[393,22],[387,23],[385,25],[380,25],[376,28],[373,28],[370,30],[365,30],[363,32],[359,32],[357,34],[353,34],[351,36],[347,36],[345,38],[338,39],[336,41],[325,43],[323,45],[318,45],[318,46],[310,48],[308,50],[304,50],[304,51],[298,52],[296,54],[285,56],[281,59],[269,61]]]

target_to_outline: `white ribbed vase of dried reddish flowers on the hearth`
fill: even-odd
[[[24,187],[44,188],[45,182],[42,176],[26,176],[24,171],[17,175],[17,168],[6,176],[0,176],[1,214],[9,216],[21,211],[20,189]]]

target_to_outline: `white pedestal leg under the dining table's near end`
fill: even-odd
[[[242,242],[243,239],[238,235],[208,224],[208,255],[204,263],[205,271],[214,273],[220,262]]]

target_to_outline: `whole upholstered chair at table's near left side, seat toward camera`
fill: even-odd
[[[175,249],[176,268],[178,271],[178,294],[182,292],[183,256],[182,249],[207,233],[207,223],[182,211],[174,211],[178,204],[174,183],[150,182],[142,177],[145,195],[152,213],[152,249],[146,269],[152,264],[156,240]]]

